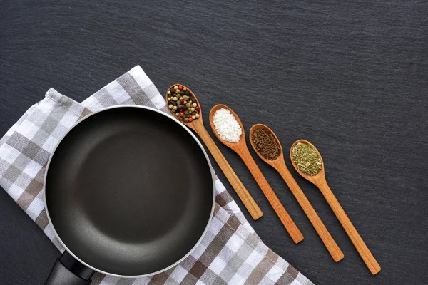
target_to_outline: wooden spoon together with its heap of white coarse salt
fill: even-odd
[[[303,235],[297,228],[290,214],[282,206],[275,192],[273,192],[265,176],[253,160],[245,142],[244,127],[238,116],[226,105],[215,105],[210,111],[210,125],[215,136],[233,151],[235,151],[247,165],[255,181],[269,201],[277,216],[280,218],[293,242],[301,242]]]

